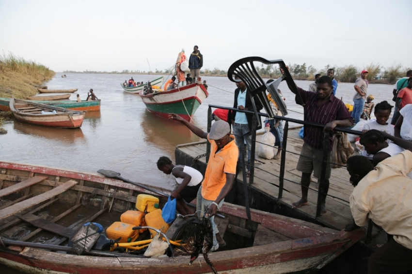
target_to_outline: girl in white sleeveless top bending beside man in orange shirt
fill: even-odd
[[[179,185],[172,194],[172,198],[176,198],[176,209],[183,216],[193,214],[186,202],[190,203],[197,197],[197,192],[203,181],[203,175],[193,167],[175,166],[166,156],[162,156],[158,160],[158,169],[164,174],[171,174],[176,178]],[[186,202],[185,202],[186,201]],[[189,218],[189,217],[185,217]]]

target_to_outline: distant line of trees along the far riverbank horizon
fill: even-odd
[[[331,66],[326,65],[323,69],[318,70],[314,66],[307,65],[306,63],[303,64],[288,64],[289,72],[293,76],[293,78],[297,80],[314,80],[315,75],[317,73],[321,75],[326,75],[328,69],[334,69],[334,77],[336,80],[341,82],[349,82],[354,83],[356,78],[360,76],[360,73],[363,69],[358,69],[355,65],[347,65],[344,67],[339,66]],[[264,65],[261,64],[260,66],[256,67],[258,73],[264,78],[273,78],[273,77],[280,77],[281,73],[279,71],[278,65]],[[394,64],[390,67],[383,67],[379,63],[374,64],[373,62],[366,67],[364,67],[368,73],[368,80],[373,82],[374,80],[383,80],[382,82],[385,83],[395,83],[397,78],[403,77],[406,75],[406,72],[410,70],[410,67],[403,67],[401,64]],[[83,71],[83,72],[76,72],[76,71],[63,71],[63,73],[94,73],[94,74],[165,74],[169,75],[173,73],[173,67],[164,70],[158,70],[157,68],[155,71],[140,71],[140,70],[123,70],[121,72],[112,71],[112,72],[99,72],[99,71]],[[215,67],[213,70],[210,69],[203,69],[201,70],[201,74],[204,76],[227,76],[227,71],[221,70]]]

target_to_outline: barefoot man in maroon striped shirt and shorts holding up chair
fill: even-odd
[[[290,90],[294,92],[292,89]],[[331,132],[328,155],[328,162],[330,162],[332,156],[333,129],[337,126],[349,127],[353,124],[353,118],[350,116],[345,104],[333,95],[332,79],[329,76],[322,76],[317,80],[316,93],[304,91],[301,88],[298,88],[298,92],[305,104],[303,106],[304,121],[324,124],[325,127],[322,129],[314,126],[304,126],[304,144],[302,146],[298,166],[296,167],[297,170],[302,172],[302,198],[299,201],[292,203],[293,208],[299,208],[308,204],[308,188],[312,171],[314,172],[315,178],[320,178],[324,132]],[[297,100],[299,94],[296,94],[296,103],[299,102]],[[326,213],[326,195],[329,190],[329,178],[331,178],[331,165],[328,163],[323,189],[319,189],[319,191],[323,193],[321,213]]]

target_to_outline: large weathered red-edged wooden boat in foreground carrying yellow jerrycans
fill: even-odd
[[[158,196],[131,183],[95,174],[7,162],[0,162],[0,182],[0,194],[8,194],[0,198],[0,235],[3,240],[54,245],[67,242],[62,231],[79,230],[86,222],[97,222],[104,229],[108,228],[120,219],[121,213],[135,207],[138,194]],[[159,197],[160,207],[166,199]],[[111,212],[108,213],[108,210]],[[209,259],[218,273],[316,272],[364,235],[363,229],[336,231],[253,209],[251,233],[249,225],[246,225],[248,221],[244,207],[223,203],[219,213],[224,218],[216,216],[215,221],[227,246],[222,251],[209,253]],[[28,225],[33,224],[30,219],[40,224]],[[60,234],[56,234],[59,233],[53,228],[56,226],[61,228]],[[0,244],[0,263],[26,273],[211,272],[202,255],[189,266],[189,256],[152,259],[124,257],[128,254],[117,252],[111,254],[118,257],[79,256]]]

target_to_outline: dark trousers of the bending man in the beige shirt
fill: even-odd
[[[412,273],[412,249],[394,239],[378,248],[368,259],[368,274]]]

